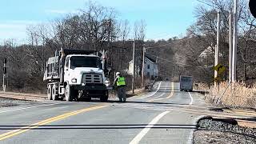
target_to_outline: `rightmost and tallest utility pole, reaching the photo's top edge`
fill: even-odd
[[[237,42],[238,42],[238,0],[234,0],[234,33],[232,57],[232,82],[237,81]]]

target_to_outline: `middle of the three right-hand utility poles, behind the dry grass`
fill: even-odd
[[[230,62],[229,62],[229,82],[232,82],[232,55],[233,55],[233,43],[232,43],[232,18],[233,14],[230,10]]]

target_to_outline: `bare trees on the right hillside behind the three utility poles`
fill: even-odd
[[[194,75],[196,81],[214,81],[214,47],[217,42],[217,13],[221,13],[219,63],[226,66],[222,80],[228,79],[229,68],[229,14],[234,4],[230,0],[206,0],[209,6],[197,6],[196,22],[187,29],[185,38],[174,49],[178,57],[186,61],[184,69]],[[238,4],[238,81],[252,84],[256,79],[256,20],[250,14],[248,1]],[[178,60],[178,58],[177,58]]]

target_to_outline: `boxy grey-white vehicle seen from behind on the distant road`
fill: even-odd
[[[180,76],[180,90],[193,91],[193,77]]]

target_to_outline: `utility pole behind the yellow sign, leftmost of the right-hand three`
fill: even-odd
[[[218,50],[219,50],[219,37],[220,37],[220,12],[218,11],[218,25],[217,25],[217,45],[215,46],[215,63],[214,65],[218,65]],[[214,78],[218,77],[217,70],[214,70]],[[217,82],[214,81],[214,86],[217,86]]]

